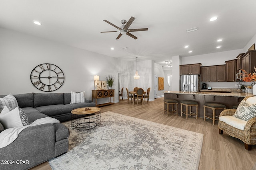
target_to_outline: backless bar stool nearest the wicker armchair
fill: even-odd
[[[212,109],[212,117],[206,116],[206,108]],[[214,125],[214,121],[219,120],[219,119],[216,119],[216,117],[218,117],[216,116],[217,109],[226,109],[226,106],[218,103],[205,103],[204,104],[204,121],[207,117],[212,120],[212,124]]]

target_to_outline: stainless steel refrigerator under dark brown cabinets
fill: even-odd
[[[198,92],[199,75],[182,75],[180,76],[180,91]]]

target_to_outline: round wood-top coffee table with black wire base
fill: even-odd
[[[77,130],[89,130],[100,123],[99,107],[82,107],[71,111],[71,127]]]

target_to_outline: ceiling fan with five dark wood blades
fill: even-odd
[[[103,20],[106,23],[109,23],[110,25],[112,25],[113,27],[116,27],[119,30],[118,31],[104,31],[104,32],[101,32],[101,33],[119,32],[119,35],[117,36],[116,39],[119,39],[123,34],[129,35],[130,37],[132,37],[134,39],[137,39],[138,37],[132,35],[130,32],[148,31],[148,28],[128,29],[134,20],[135,20],[134,17],[131,17],[130,20],[127,23],[126,23],[126,20],[121,20],[122,25],[120,27],[114,25],[113,23],[111,23],[107,20]]]

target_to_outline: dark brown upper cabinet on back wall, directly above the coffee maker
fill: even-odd
[[[201,67],[201,82],[225,82],[226,65]]]

